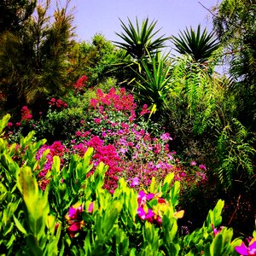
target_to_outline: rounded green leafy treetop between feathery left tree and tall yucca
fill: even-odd
[[[88,86],[104,83],[109,77],[123,81],[124,71],[115,71],[119,59],[123,59],[124,50],[117,49],[102,34],[91,38],[91,43],[73,44],[69,53],[69,77],[74,81],[82,75],[88,78]]]

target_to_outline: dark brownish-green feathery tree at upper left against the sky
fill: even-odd
[[[72,45],[73,15],[57,5],[52,19],[50,1],[20,24],[17,32],[0,38],[0,90],[5,108],[34,104],[61,95],[67,87],[67,53]]]

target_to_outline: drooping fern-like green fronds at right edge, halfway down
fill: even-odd
[[[247,189],[255,184],[253,160],[256,150],[247,129],[237,119],[232,119],[218,137],[220,166],[218,177],[224,188],[245,181]]]

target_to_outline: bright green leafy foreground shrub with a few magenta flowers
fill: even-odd
[[[201,229],[183,232],[178,219],[180,182],[174,172],[162,184],[130,188],[120,178],[113,193],[104,189],[108,166],[94,172],[93,148],[83,157],[72,154],[61,163],[55,148],[52,160],[45,140],[33,142],[33,132],[9,144],[0,122],[0,249],[3,255],[255,255],[255,238],[233,240],[231,228],[221,226],[224,201],[210,210]],[[56,146],[56,145],[55,145]],[[58,145],[60,146],[60,145]],[[49,183],[40,186],[47,172]],[[256,236],[256,232],[253,233]]]

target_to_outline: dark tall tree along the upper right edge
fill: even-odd
[[[233,79],[230,90],[239,102],[240,120],[256,131],[256,3],[224,0],[215,7],[213,24],[224,44],[224,59]]]

